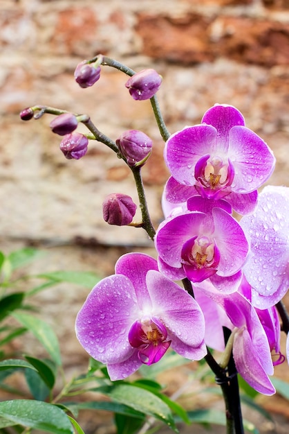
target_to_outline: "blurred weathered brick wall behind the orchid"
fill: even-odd
[[[149,135],[153,154],[142,172],[158,225],[169,173],[150,103],[133,101],[127,77],[109,67],[81,89],[74,69],[97,53],[162,75],[157,95],[170,132],[199,123],[214,103],[234,105],[274,151],[269,183],[289,185],[289,0],[1,0],[0,241],[5,253],[29,245],[46,250],[29,272],[92,270],[104,277],[120,254],[140,248],[155,254],[142,229],[102,219],[109,193],[138,202],[122,160],[94,142],[80,161],[66,160],[61,137],[49,128],[52,115],[19,118],[24,107],[50,105],[89,114],[113,140],[127,129]],[[36,300],[57,327],[72,372],[87,360],[73,331],[86,295],[63,286]],[[287,371],[288,365],[277,368],[280,376]],[[289,417],[288,402],[266,405]],[[288,432],[278,429],[262,432]]]

